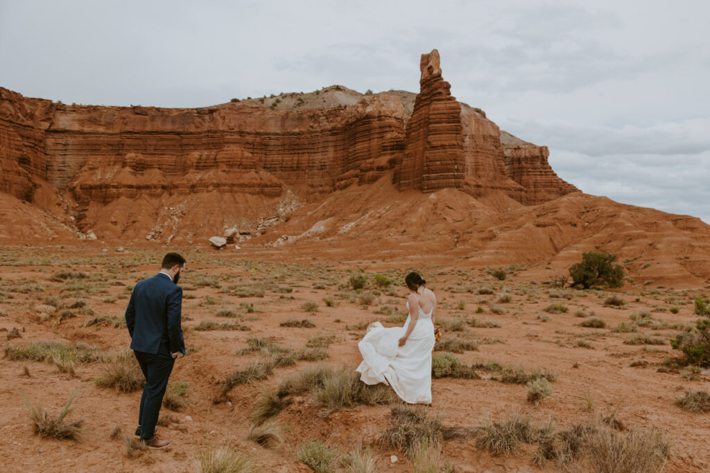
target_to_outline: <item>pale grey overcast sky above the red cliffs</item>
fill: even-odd
[[[710,2],[0,0],[0,87],[67,104],[419,89],[459,101],[589,193],[710,223]]]

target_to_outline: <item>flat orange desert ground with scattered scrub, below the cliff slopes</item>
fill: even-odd
[[[545,455],[584,425],[611,440],[648,440],[660,455],[655,470],[710,468],[707,414],[677,404],[687,391],[708,391],[708,377],[683,367],[669,343],[694,325],[694,298],[708,289],[584,291],[540,277],[539,266],[405,267],[278,249],[170,250],[187,258],[180,280],[187,356],[175,363],[170,406],[160,414],[160,436],[172,443],[143,451],[130,441],[140,386],[126,381],[135,379],[137,363],[124,311],[133,285],[158,272],[167,250],[0,247],[5,471],[191,472],[222,448],[243,464],[238,471],[308,472],[309,445],[330,461],[320,471],[605,471],[590,456],[599,445],[582,445],[569,461]],[[357,343],[368,323],[403,323],[410,270],[438,298],[443,335],[432,405],[408,408],[382,385],[339,400],[325,388],[294,388],[303,373],[329,368],[357,382]],[[358,282],[364,287],[355,289]],[[42,351],[40,342],[55,345]],[[110,382],[116,369],[126,381],[118,387]],[[540,379],[543,394],[528,400]],[[264,400],[279,391],[280,409],[265,414]],[[83,420],[80,436],[37,435],[29,407],[54,418],[75,394],[65,422]],[[511,420],[529,421],[535,435],[495,438],[496,425]],[[396,435],[405,424],[414,433],[429,429],[425,445]],[[369,469],[357,469],[357,461]]]

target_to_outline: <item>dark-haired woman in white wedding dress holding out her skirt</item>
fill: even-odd
[[[407,321],[403,327],[392,328],[371,323],[358,343],[363,362],[357,371],[365,384],[389,384],[405,402],[431,404],[437,298],[416,272],[407,274],[405,283],[410,290]]]

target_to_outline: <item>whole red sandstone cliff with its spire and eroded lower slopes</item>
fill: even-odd
[[[436,50],[420,71],[416,96],[333,86],[205,108],[67,106],[0,88],[0,240],[185,244],[236,226],[332,255],[554,266],[603,247],[657,258],[657,274],[635,269],[650,279],[710,277],[709,226],[579,193],[546,147],[456,101]]]

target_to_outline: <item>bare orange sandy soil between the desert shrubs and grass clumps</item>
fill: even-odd
[[[277,368],[268,379],[236,386],[225,401],[215,402],[219,400],[219,384],[231,372],[258,359],[255,353],[240,355],[237,351],[246,347],[250,337],[273,336],[281,345],[299,349],[315,335],[334,335],[334,342],[327,348],[329,358],[323,363],[354,369],[361,360],[356,343],[364,335],[366,323],[386,318],[375,312],[386,312],[383,306],[404,311],[407,291],[402,281],[411,269],[422,272],[437,294],[439,323],[455,325],[457,320],[475,317],[500,325],[466,325],[456,333],[445,332],[444,339],[458,336],[479,343],[478,350],[458,354],[461,361],[471,364],[495,360],[503,365],[539,367],[558,374],[552,383],[553,394],[537,405],[526,401],[524,385],[495,381],[483,371],[479,373],[481,379],[434,379],[433,404],[429,409],[443,416],[444,425],[479,427],[486,418],[501,418],[517,410],[529,413],[535,421],[552,420],[558,430],[564,430],[589,416],[615,413],[627,430],[653,427],[662,431],[670,442],[665,471],[710,469],[707,415],[689,413],[675,404],[676,397],[685,391],[710,390],[708,377],[684,369],[657,371],[665,367],[666,357],[679,355],[667,340],[682,325],[694,323],[697,316],[693,314],[692,299],[700,294],[707,296],[707,289],[621,290],[616,295],[626,304],[616,308],[603,304],[610,295],[606,291],[554,289],[522,267],[499,281],[485,269],[442,267],[433,262],[393,267],[384,261],[340,264],[312,257],[299,259],[287,250],[239,257],[191,248],[176,250],[188,260],[188,271],[180,285],[185,290],[183,326],[190,352],[176,362],[170,378],[171,382],[189,383],[187,404],[179,411],[161,411],[161,416],[173,418],[161,435],[172,445],[166,450],[129,457],[126,445],[110,438],[116,425],[125,433],[136,428],[140,391],[122,393],[96,386],[94,379],[102,374],[102,363],[79,363],[72,376],[48,362],[12,361],[5,357],[0,360],[4,380],[0,402],[5,406],[0,414],[4,433],[0,454],[6,471],[190,472],[199,468],[201,448],[231,440],[263,471],[307,472],[310,469],[296,460],[297,450],[307,439],[322,440],[340,454],[349,452],[356,443],[372,444],[381,470],[411,471],[412,464],[403,452],[376,443],[378,434],[390,426],[389,406],[359,406],[328,414],[307,396],[300,396],[275,418],[283,427],[282,442],[264,448],[247,440],[253,401],[261,390],[273,388],[288,374],[317,362],[300,361]],[[67,345],[84,342],[111,352],[128,347],[129,335],[120,321],[130,289],[158,271],[162,252],[4,246],[0,247],[0,255],[3,347],[58,340]],[[82,272],[87,278],[55,277],[62,270]],[[349,276],[360,271],[370,278],[364,291],[374,295],[368,306],[359,304],[358,294],[347,287]],[[376,288],[371,278],[376,272],[388,274],[395,284],[388,289]],[[492,289],[493,294],[478,294],[483,287]],[[252,295],[245,296],[249,291]],[[497,302],[502,293],[510,295],[509,302]],[[327,306],[324,299],[332,300],[334,306]],[[70,308],[75,301],[86,305]],[[317,311],[305,311],[302,305],[307,301],[315,301]],[[568,311],[545,312],[554,303],[563,304]],[[48,313],[51,308],[43,306],[52,304],[59,308]],[[482,312],[476,313],[478,307]],[[671,307],[677,307],[678,313],[671,313]],[[231,309],[236,318],[217,316],[221,309]],[[66,313],[60,320],[64,311],[72,316]],[[655,326],[640,327],[638,335],[660,338],[664,345],[627,345],[624,340],[635,334],[611,331],[618,323],[630,323],[630,316],[640,311],[648,311]],[[605,321],[606,328],[579,326],[591,316]],[[92,320],[102,317],[91,325]],[[315,328],[281,327],[279,324],[288,318],[309,318]],[[114,321],[119,326],[114,327]],[[238,322],[251,330],[195,330],[203,321]],[[21,336],[6,339],[13,328]],[[642,360],[648,363],[630,366]],[[23,373],[24,367],[29,376]],[[67,420],[85,419],[82,440],[47,440],[35,435],[21,394],[50,413],[58,413],[76,391],[75,411]],[[587,401],[591,412],[586,408]],[[475,438],[444,443],[444,452],[457,471],[552,471],[554,463],[544,467],[532,464],[535,448],[523,444],[510,455],[494,457],[476,447]],[[391,455],[398,456],[396,464],[391,464]]]

